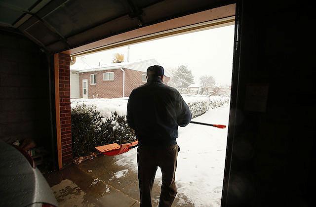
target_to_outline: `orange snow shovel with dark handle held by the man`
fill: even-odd
[[[221,125],[221,124],[206,124],[206,123],[200,123],[200,122],[190,122],[192,124],[201,124],[201,125],[207,125],[207,126],[214,126],[217,128],[226,128],[226,125]],[[98,152],[102,153],[103,155],[108,155],[108,156],[114,156],[114,155],[119,155],[124,152],[128,152],[129,150],[135,148],[138,146],[138,140],[130,143],[124,143],[124,144],[118,144],[118,143],[113,143],[113,144],[107,144],[103,146],[98,146],[94,147]]]

